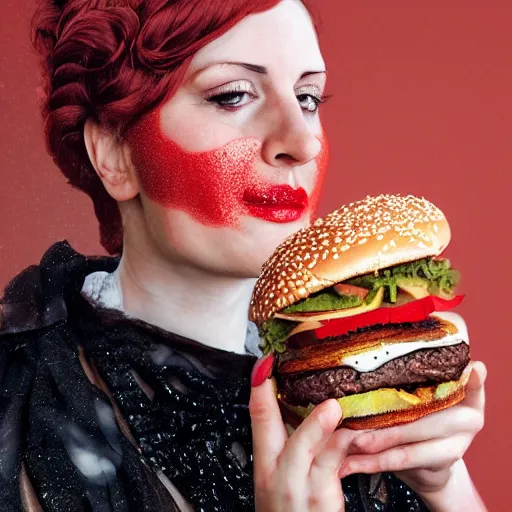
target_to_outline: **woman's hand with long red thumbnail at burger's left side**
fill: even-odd
[[[273,381],[267,378],[271,368],[272,356],[256,363],[249,403],[256,510],[345,510],[339,470],[355,432],[336,431],[341,408],[328,400],[288,435]]]

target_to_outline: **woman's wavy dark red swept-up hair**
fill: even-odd
[[[89,160],[87,119],[122,137],[171,96],[194,54],[246,16],[280,0],[44,0],[32,22],[43,57],[48,151],[88,194],[110,254],[122,251],[121,215]]]

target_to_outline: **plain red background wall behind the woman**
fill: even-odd
[[[323,110],[332,158],[320,213],[381,192],[424,195],[446,213],[468,294],[461,312],[489,369],[487,425],[467,462],[490,510],[508,510],[512,2],[314,3],[334,93]],[[2,0],[0,286],[57,239],[100,252],[89,200],[44,150],[32,5]]]

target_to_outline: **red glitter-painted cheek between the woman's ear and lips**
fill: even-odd
[[[243,193],[260,184],[255,172],[258,139],[187,152],[162,134],[155,110],[130,130],[129,142],[140,184],[150,199],[185,211],[206,226],[240,226]]]

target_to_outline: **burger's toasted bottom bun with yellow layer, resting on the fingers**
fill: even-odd
[[[452,407],[464,400],[470,373],[471,363],[456,381],[418,387],[414,392],[381,388],[340,398],[338,402],[344,416],[338,428],[362,430],[393,427]],[[293,428],[297,428],[315,408],[314,405],[302,407],[287,404],[279,393],[278,400],[283,419]]]

